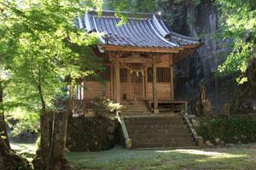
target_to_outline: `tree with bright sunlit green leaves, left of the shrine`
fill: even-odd
[[[65,78],[73,82],[98,68],[92,46],[98,35],[86,34],[74,26],[79,14],[95,7],[101,0],[1,0],[0,63],[9,73],[5,106],[21,106],[41,114],[41,156],[48,166],[48,109],[63,94]]]

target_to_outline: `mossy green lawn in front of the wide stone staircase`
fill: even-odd
[[[193,150],[125,150],[115,147],[100,152],[69,152],[73,169],[256,169],[256,144]]]

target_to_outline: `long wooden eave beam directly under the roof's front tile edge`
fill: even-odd
[[[105,45],[106,51],[131,51],[131,52],[148,52],[148,53],[179,53],[183,48],[139,48],[139,47],[124,47]]]

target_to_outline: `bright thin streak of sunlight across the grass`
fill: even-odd
[[[183,154],[190,154],[196,156],[208,156],[209,158],[237,158],[237,157],[247,157],[246,154],[230,154],[224,152],[213,152],[213,151],[205,151],[205,150],[156,150],[158,153],[183,153]]]

